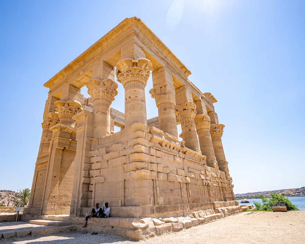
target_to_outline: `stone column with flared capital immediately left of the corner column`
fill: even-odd
[[[117,83],[111,79],[91,79],[86,83],[93,103],[93,137],[111,135],[110,105],[117,95]]]

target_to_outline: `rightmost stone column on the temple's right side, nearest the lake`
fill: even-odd
[[[222,146],[221,141],[221,136],[224,132],[223,129],[223,124],[211,124],[210,133],[219,170],[229,172],[228,162],[226,161],[226,157],[224,156],[224,148]]]

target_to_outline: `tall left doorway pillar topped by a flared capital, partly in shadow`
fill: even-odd
[[[76,129],[72,117],[82,111],[77,101],[59,100],[59,124],[52,126],[52,143],[46,173],[43,206],[40,214],[69,214],[74,178]]]

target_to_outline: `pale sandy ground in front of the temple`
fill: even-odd
[[[2,239],[0,244],[291,244],[305,243],[305,211],[243,212],[180,232],[133,241],[111,235],[65,232],[56,235]]]

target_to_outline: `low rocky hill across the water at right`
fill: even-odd
[[[305,186],[296,189],[283,189],[283,190],[274,190],[274,191],[266,191],[266,192],[248,192],[242,194],[234,194],[235,200],[239,199],[251,199],[251,198],[259,198],[260,195],[269,196],[270,193],[275,192],[278,195],[283,196],[305,196]]]

